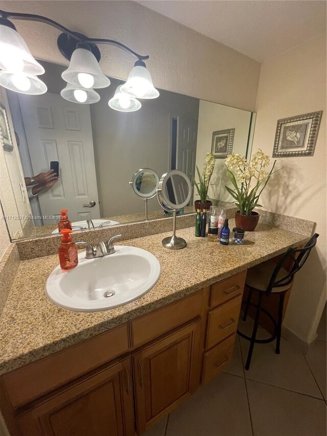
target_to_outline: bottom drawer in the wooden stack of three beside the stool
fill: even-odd
[[[203,383],[211,380],[216,374],[227,368],[232,358],[235,338],[236,334],[233,334],[216,345],[212,350],[204,353]]]

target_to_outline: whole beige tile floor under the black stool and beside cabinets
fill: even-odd
[[[237,336],[226,372],[144,436],[326,436],[326,308],[317,333],[306,355],[285,339],[279,356],[274,342],[257,344],[249,371],[248,341]]]

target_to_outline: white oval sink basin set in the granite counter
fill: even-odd
[[[76,268],[57,266],[45,284],[45,293],[57,306],[79,312],[112,309],[147,293],[160,277],[160,263],[149,251],[115,245],[112,255],[85,259]],[[108,295],[108,296],[105,296]]]

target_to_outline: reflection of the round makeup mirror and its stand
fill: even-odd
[[[150,168],[141,168],[136,171],[129,182],[132,193],[144,200],[145,220],[148,220],[148,200],[155,197],[159,185],[158,174]]]

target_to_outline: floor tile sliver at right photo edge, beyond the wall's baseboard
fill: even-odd
[[[319,337],[319,336],[318,336]],[[314,341],[306,354],[307,362],[326,400],[326,352],[327,344],[322,340]]]

